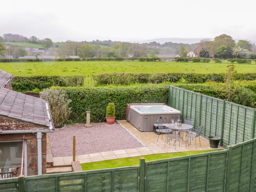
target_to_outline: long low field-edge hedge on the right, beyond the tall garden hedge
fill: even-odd
[[[135,74],[114,73],[93,75],[95,86],[105,84],[129,85],[134,83],[204,83],[207,81],[224,82],[225,74],[185,74],[185,73],[157,73],[157,74]],[[255,80],[256,73],[236,74],[236,80]]]

